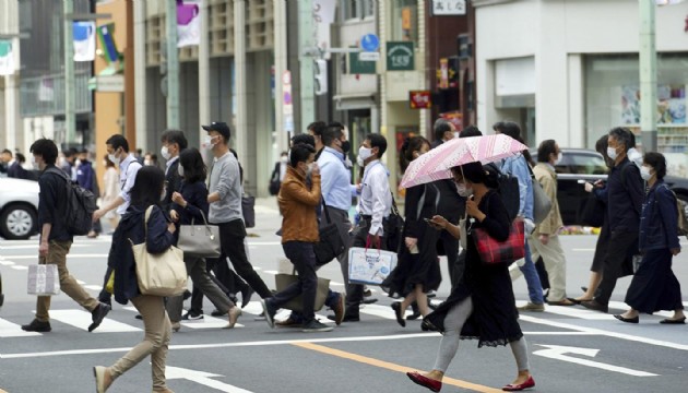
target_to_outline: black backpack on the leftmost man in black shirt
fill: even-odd
[[[63,209],[67,231],[73,236],[87,235],[93,227],[93,212],[98,209],[96,196],[90,190],[72,181],[62,170],[50,167],[47,171],[60,176],[66,181],[67,201],[59,209]]]

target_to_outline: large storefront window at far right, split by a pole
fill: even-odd
[[[657,55],[657,150],[688,153],[688,52]],[[613,127],[640,135],[638,55],[589,56],[585,61],[586,145]],[[637,139],[641,142],[641,139]]]

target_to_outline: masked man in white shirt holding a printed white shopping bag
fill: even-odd
[[[358,162],[365,167],[360,182],[358,212],[360,221],[354,230],[352,247],[368,247],[384,249],[383,222],[392,209],[392,192],[390,191],[389,172],[380,162],[387,151],[384,136],[372,133],[358,148]],[[346,312],[344,322],[358,322],[359,306],[364,298],[364,286],[349,284],[346,290]]]

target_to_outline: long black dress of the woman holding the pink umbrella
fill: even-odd
[[[483,223],[477,219],[467,223],[470,229],[485,228],[497,240],[509,237],[509,217],[499,194],[489,191],[478,204],[485,213]],[[468,230],[470,230],[468,229]],[[509,265],[485,265],[475,247],[472,235],[467,239],[466,266],[462,279],[452,289],[449,298],[436,311],[424,319],[424,326],[440,332],[444,331],[447,312],[471,297],[473,313],[461,331],[461,338],[477,338],[478,347],[484,345],[507,345],[523,336],[519,325]]]

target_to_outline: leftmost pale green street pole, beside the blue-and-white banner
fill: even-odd
[[[74,13],[74,1],[63,1],[64,15],[64,142],[69,147],[76,142],[76,115],[74,104],[74,21],[70,17]]]

